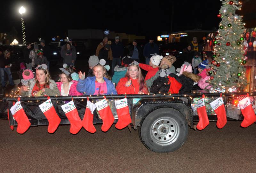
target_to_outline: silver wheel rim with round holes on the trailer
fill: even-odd
[[[174,143],[180,134],[178,123],[170,117],[158,118],[152,123],[150,135],[158,145],[170,145]]]

